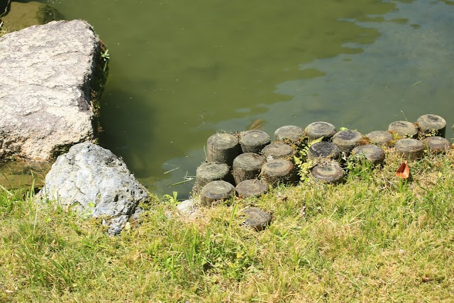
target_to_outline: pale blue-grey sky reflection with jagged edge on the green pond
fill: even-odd
[[[446,9],[441,3],[418,1],[397,4],[381,22],[350,20],[375,28],[381,37],[372,45],[358,45],[361,54],[301,65],[326,75],[279,84],[277,92],[292,94],[293,99],[272,104],[268,114],[279,111],[286,116],[296,109],[298,119],[308,123],[328,119],[336,126],[358,128],[363,133],[387,129],[395,120],[416,121],[428,113],[453,121],[453,104],[448,101],[453,89],[447,79],[454,77],[450,68],[454,43],[448,38],[453,24],[449,16],[454,10],[449,8],[448,13]],[[287,119],[292,116],[287,114]],[[450,131],[447,136],[452,136]]]

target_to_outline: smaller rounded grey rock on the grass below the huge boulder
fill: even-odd
[[[89,142],[76,144],[57,158],[38,197],[82,216],[104,218],[110,234],[120,233],[141,211],[138,204],[150,199],[121,158]]]

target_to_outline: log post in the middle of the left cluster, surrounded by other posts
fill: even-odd
[[[260,169],[265,163],[265,157],[256,153],[242,153],[233,160],[233,179],[235,184],[260,175]]]

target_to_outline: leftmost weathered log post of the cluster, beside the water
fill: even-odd
[[[221,162],[203,163],[196,170],[194,192],[199,192],[206,184],[216,180],[231,181],[230,166]]]

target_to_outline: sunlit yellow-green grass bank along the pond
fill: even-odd
[[[25,191],[0,192],[1,302],[453,302],[454,153],[345,184],[313,180],[181,216],[144,206],[141,226],[109,237]],[[241,225],[253,204],[264,231]]]

